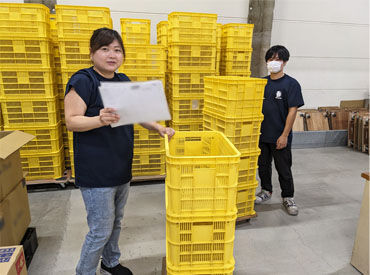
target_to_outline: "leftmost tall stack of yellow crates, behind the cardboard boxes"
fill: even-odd
[[[4,130],[35,136],[21,149],[27,180],[64,173],[64,151],[54,90],[49,9],[0,4],[0,100]]]

